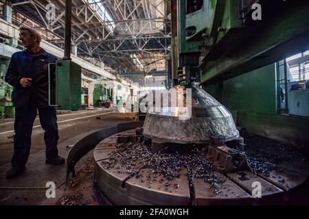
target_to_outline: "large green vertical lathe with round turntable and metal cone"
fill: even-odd
[[[201,86],[302,51],[308,14],[308,1],[172,0],[170,88],[191,89],[184,99],[192,105],[191,117],[179,118],[173,106],[148,112],[144,122],[92,133],[69,152],[68,177],[95,148],[95,183],[113,205],[295,201],[309,175],[304,155],[247,137]]]

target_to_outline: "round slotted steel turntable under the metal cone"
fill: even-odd
[[[140,157],[136,157],[137,154],[133,153],[136,150],[140,151],[144,147],[143,144],[127,142],[115,145],[119,136],[135,136],[135,134],[133,130],[116,133],[102,140],[94,151],[97,160],[95,181],[113,205],[251,205],[256,202],[267,203],[267,201],[282,203],[286,192],[293,191],[308,178],[306,175],[275,165],[272,165],[275,168],[268,169],[268,174],[258,172],[258,175],[255,175],[249,171],[239,171],[222,175],[219,172],[209,172],[210,169],[205,171],[204,161],[201,157],[196,157],[193,160],[190,158],[192,162],[185,163],[186,166],[189,165],[190,172],[181,169],[178,177],[167,180],[168,178],[163,177],[160,168],[153,169],[154,166],[150,168],[151,165],[145,165],[146,160],[143,157],[149,153],[149,149],[148,152],[141,153]],[[136,145],[137,148],[131,149]],[[250,149],[250,146],[246,149]],[[113,153],[115,150],[122,151],[122,153]],[[207,151],[201,152],[201,156],[207,159]],[[176,157],[169,156],[170,163],[174,164],[178,161],[176,166],[179,166],[181,159],[184,158],[177,153]],[[186,157],[186,155],[183,156]],[[119,160],[116,159],[117,157]],[[159,157],[155,160],[161,163]],[[168,162],[166,158],[162,161]],[[108,162],[113,165],[109,165]],[[169,165],[169,163],[164,165]],[[175,165],[173,166],[176,167]],[[206,168],[210,163],[205,165]],[[164,175],[167,173],[172,172],[168,170]],[[262,185],[262,199],[251,196],[254,189],[252,183],[255,181]]]

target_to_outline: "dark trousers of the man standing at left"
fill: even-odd
[[[40,123],[44,129],[44,140],[46,146],[46,159],[58,156],[58,126],[55,107],[38,109]],[[34,120],[36,118],[36,108],[21,109],[15,108],[14,123],[14,155],[12,166],[23,166],[27,163],[30,154],[31,134]]]

